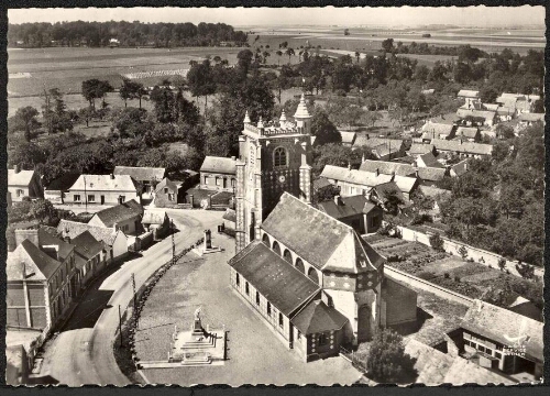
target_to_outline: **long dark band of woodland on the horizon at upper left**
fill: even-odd
[[[143,23],[140,21],[22,23],[8,25],[8,44],[25,47],[80,46],[101,47],[118,40],[121,46],[216,46],[221,42],[246,43],[246,33],[226,23]]]

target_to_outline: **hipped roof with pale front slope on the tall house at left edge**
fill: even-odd
[[[25,239],[13,252],[8,252],[6,261],[7,279],[23,280],[23,265],[26,280],[46,280],[57,271],[62,263],[52,258],[38,246]]]

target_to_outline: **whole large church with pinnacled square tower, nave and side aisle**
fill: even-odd
[[[239,136],[231,285],[306,361],[338,355],[377,328],[416,321],[417,295],[384,275],[385,257],[314,208],[311,116],[304,96],[287,121]]]

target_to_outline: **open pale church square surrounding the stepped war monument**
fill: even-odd
[[[135,349],[140,361],[167,360],[175,327],[189,328],[200,306],[205,327],[226,326],[228,360],[216,366],[143,370],[148,382],[184,386],[349,385],[360,380],[361,373],[342,358],[305,363],[288,350],[229,284],[227,262],[234,254],[234,240],[213,233],[212,244],[223,252],[189,253],[156,284],[140,318]]]

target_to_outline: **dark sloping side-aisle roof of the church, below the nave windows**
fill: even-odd
[[[250,243],[241,253],[229,265],[287,317],[321,289],[260,241]]]

